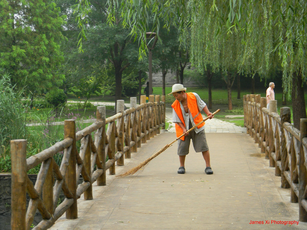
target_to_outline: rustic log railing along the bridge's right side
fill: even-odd
[[[299,203],[299,220],[307,222],[307,119],[301,119],[300,130],[291,125],[289,107],[277,113],[277,101],[260,94],[243,96],[244,125],[258,143],[275,175],[281,177],[281,187],[290,188],[290,202]]]

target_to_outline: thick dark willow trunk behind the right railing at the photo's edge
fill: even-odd
[[[293,126],[294,128],[300,129],[300,119],[307,118],[301,72],[294,73],[293,75],[291,94],[292,94],[291,96],[292,96]]]

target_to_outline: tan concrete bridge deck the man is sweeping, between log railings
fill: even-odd
[[[192,144],[186,173],[177,174],[174,143],[139,173],[107,175],[107,186],[94,183],[94,199],[78,199],[78,219],[63,215],[50,229],[307,229],[307,223],[297,224],[298,204],[289,202],[290,190],[280,188],[280,177],[249,135],[218,133],[216,128],[206,136],[214,174],[204,173],[202,155]],[[116,167],[116,174],[175,139],[173,132],[151,138],[125,159],[125,166]]]

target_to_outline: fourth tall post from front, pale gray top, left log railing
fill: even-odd
[[[125,111],[125,104],[124,100],[117,100],[117,110],[116,113],[122,113],[124,114]],[[124,151],[124,122],[125,117],[122,116],[117,119],[116,122],[116,128],[118,132],[118,144],[121,146],[121,149],[117,148],[117,151]],[[124,165],[124,154],[117,160],[117,165],[118,166],[123,166]]]

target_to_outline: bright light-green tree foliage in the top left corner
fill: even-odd
[[[14,87],[41,94],[62,84],[64,39],[59,8],[51,1],[0,0],[0,68],[11,74]]]

